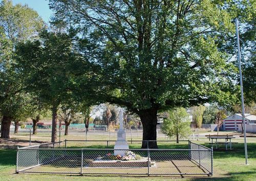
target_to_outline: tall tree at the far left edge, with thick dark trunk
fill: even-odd
[[[25,119],[30,96],[15,69],[13,51],[18,42],[34,39],[44,26],[39,15],[28,6],[0,4],[0,112],[3,115],[1,138],[9,138],[11,121]]]

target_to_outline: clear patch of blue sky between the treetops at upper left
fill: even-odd
[[[49,0],[12,0],[13,5],[15,4],[27,4],[30,8],[37,11],[39,16],[44,19],[45,22],[49,22],[50,16],[53,13],[52,10],[49,9],[48,3]]]

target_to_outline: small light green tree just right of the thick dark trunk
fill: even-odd
[[[177,143],[179,138],[190,135],[190,121],[184,108],[176,108],[168,112],[168,117],[163,120],[161,130],[169,137],[175,136]]]

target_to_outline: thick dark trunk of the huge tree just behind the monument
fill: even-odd
[[[141,110],[139,113],[143,126],[143,141],[141,148],[157,149],[157,109]],[[148,145],[147,145],[147,141]]]

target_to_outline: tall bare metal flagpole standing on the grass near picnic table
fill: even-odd
[[[241,100],[242,100],[242,117],[243,117],[243,127],[244,127],[245,164],[248,165],[247,144],[246,144],[245,114],[244,114],[244,92],[243,92],[243,80],[242,80],[242,68],[241,68],[241,53],[240,53],[240,43],[239,43],[238,18],[236,18],[236,30],[237,30],[238,62],[239,62]]]

